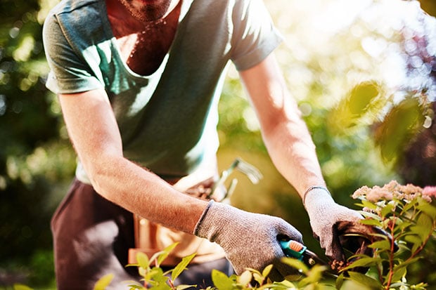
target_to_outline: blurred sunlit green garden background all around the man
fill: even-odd
[[[0,289],[15,282],[54,289],[49,220],[75,170],[56,95],[44,86],[41,27],[57,3],[0,2]],[[278,60],[336,201],[357,209],[354,190],[392,179],[436,185],[435,1],[265,4],[285,39]],[[233,173],[231,202],[285,218],[322,255],[300,198],[271,164],[233,67],[219,110],[220,169],[241,157],[264,175],[253,185]],[[436,282],[434,248],[412,266],[417,282]]]

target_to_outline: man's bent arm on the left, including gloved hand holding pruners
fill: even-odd
[[[238,274],[263,270],[283,257],[278,237],[302,241],[281,218],[248,213],[228,204],[184,195],[122,156],[122,141],[105,91],[60,95],[68,133],[96,191],[155,223],[217,242]],[[245,243],[244,241],[252,241]],[[255,258],[252,253],[258,253]],[[283,279],[288,269],[271,271]]]

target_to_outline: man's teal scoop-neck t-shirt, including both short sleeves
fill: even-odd
[[[122,61],[104,0],[63,0],[44,23],[54,93],[104,88],[124,157],[161,176],[185,176],[214,155],[217,103],[229,60],[248,69],[281,43],[261,0],[183,0],[159,69],[143,76]],[[86,179],[78,166],[77,175]]]

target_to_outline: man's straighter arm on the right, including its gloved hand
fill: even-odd
[[[361,215],[336,204],[328,192],[314,143],[274,55],[241,72],[241,79],[257,112],[269,155],[302,197],[314,235],[328,257],[345,261],[339,237],[358,228],[354,225],[359,224]],[[349,226],[338,230],[340,224]]]

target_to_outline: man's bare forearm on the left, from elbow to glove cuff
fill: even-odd
[[[123,157],[100,160],[89,173],[99,194],[154,223],[193,232],[207,202],[175,190],[154,173]]]

